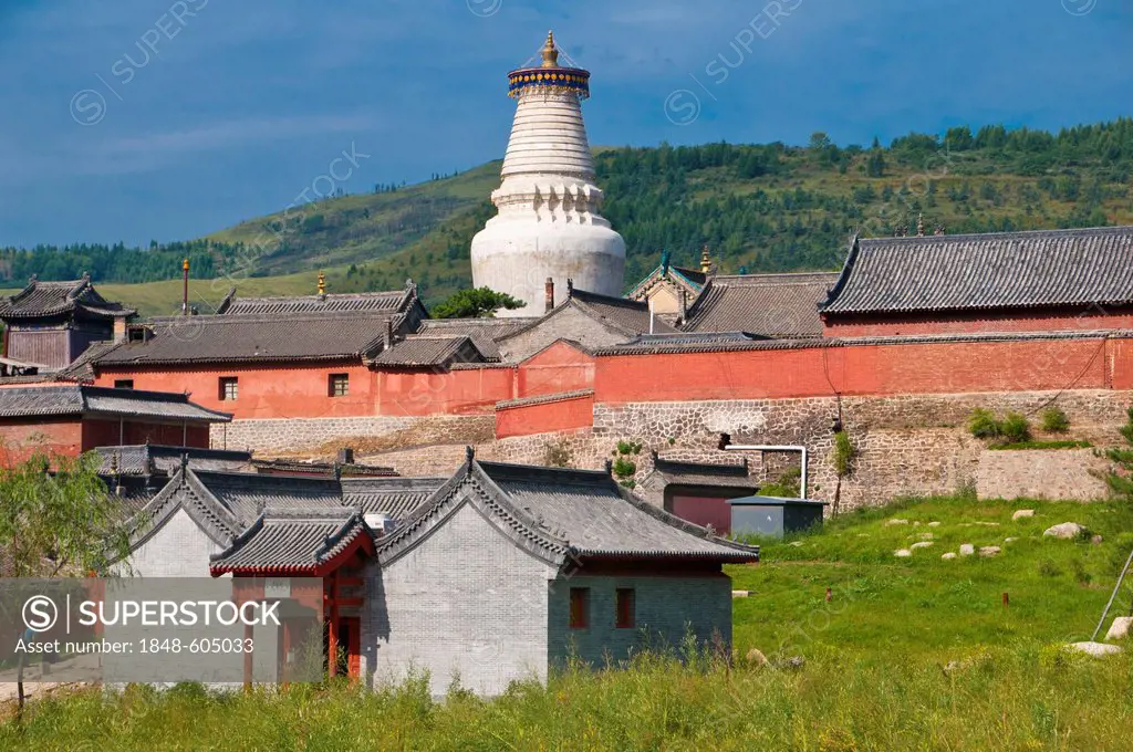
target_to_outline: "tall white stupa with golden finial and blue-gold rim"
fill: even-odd
[[[625,274],[625,242],[599,213],[582,122],[590,74],[559,65],[552,34],[542,54],[540,67],[508,74],[519,105],[503,182],[492,193],[499,213],[472,239],[472,283],[527,304],[499,316],[543,314],[548,277],[562,300],[568,279],[579,290],[621,296]]]

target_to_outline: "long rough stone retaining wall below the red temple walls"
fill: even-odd
[[[735,444],[806,445],[809,496],[833,502],[838,489],[840,507],[846,510],[900,495],[968,488],[977,488],[981,496],[1014,497],[1042,490],[1068,498],[1097,497],[1104,489],[1092,482],[1092,476],[1083,475],[1083,454],[988,452],[968,433],[969,416],[976,408],[999,415],[1017,411],[1038,426],[1040,411],[1054,402],[1070,418],[1066,438],[1106,446],[1122,441],[1117,429],[1126,420],[1131,401],[1133,394],[1125,391],[1083,390],[847,396],[841,404],[837,398],[596,404],[593,428],[504,439],[491,438],[486,429],[491,416],[236,421],[227,430],[229,448],[301,448],[304,442],[310,446],[350,437],[365,446],[375,436],[384,436],[389,447],[359,456],[407,476],[450,473],[463,462],[466,443],[475,444],[485,460],[544,464],[559,459],[572,467],[602,469],[614,459],[619,441],[640,442],[641,453],[631,458],[637,479],[653,469],[650,450],[673,459],[704,461],[746,454],[751,476],[765,482],[798,463],[796,454],[723,453],[717,444],[719,434],[726,433]],[[832,461],[832,425],[840,408],[857,450],[851,472],[841,485]]]

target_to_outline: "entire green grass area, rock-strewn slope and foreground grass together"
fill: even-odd
[[[1016,509],[1036,516],[1013,522]],[[1102,541],[1042,538],[1066,521]],[[894,557],[928,533],[931,547]],[[1002,553],[940,558],[961,544]],[[640,657],[489,701],[454,690],[434,702],[420,682],[86,691],[33,702],[24,725],[0,726],[0,749],[1128,750],[1133,658],[1058,646],[1089,638],[1131,546],[1126,504],[906,502],[765,544],[763,564],[734,567],[733,587],[751,595],[733,601],[731,665]],[[751,648],[770,663],[747,660]]]

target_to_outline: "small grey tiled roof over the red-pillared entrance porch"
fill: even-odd
[[[232,571],[312,572],[373,532],[355,510],[267,509],[225,550],[210,557],[213,575]]]

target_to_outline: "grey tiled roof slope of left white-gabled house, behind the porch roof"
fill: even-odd
[[[201,485],[240,521],[250,524],[267,507],[341,510],[342,489],[333,478],[255,472],[193,471]]]

